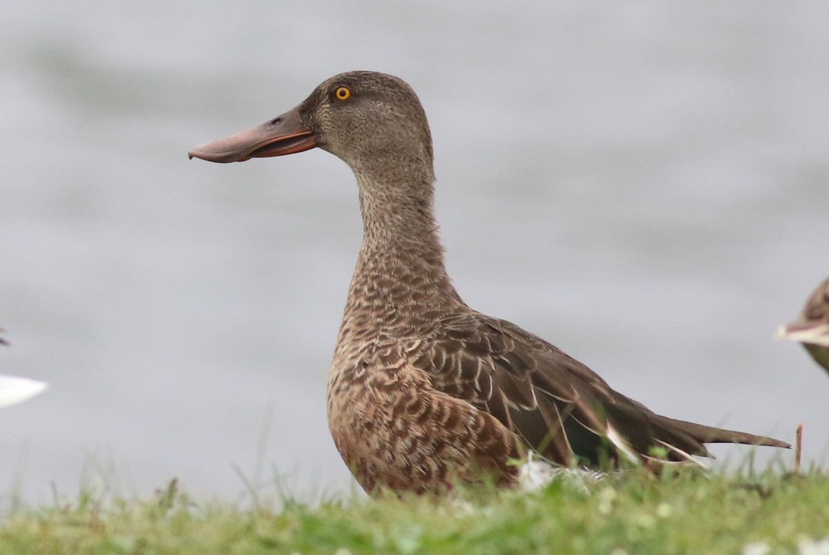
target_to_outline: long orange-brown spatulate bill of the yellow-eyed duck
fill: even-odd
[[[313,131],[303,125],[298,109],[293,109],[255,128],[199,145],[187,154],[208,162],[245,162],[250,158],[303,152],[316,146]]]

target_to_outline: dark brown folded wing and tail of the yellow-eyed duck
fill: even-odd
[[[435,389],[486,410],[542,456],[595,466],[605,457],[671,461],[708,456],[706,442],[788,446],[768,437],[662,417],[510,322],[473,312],[444,321],[407,349]]]

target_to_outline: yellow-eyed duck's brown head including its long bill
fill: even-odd
[[[293,110],[193,148],[189,155],[209,162],[244,162],[313,147],[342,158],[355,170],[388,157],[398,164],[432,166],[429,123],[414,90],[393,75],[373,71],[336,75]]]

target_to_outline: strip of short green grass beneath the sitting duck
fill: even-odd
[[[829,475],[626,471],[532,494],[195,504],[152,499],[18,509],[0,553],[829,553]]]

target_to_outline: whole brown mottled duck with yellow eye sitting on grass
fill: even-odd
[[[594,469],[695,461],[710,456],[705,443],[713,442],[789,447],[653,413],[549,342],[463,302],[434,215],[429,123],[398,77],[336,75],[296,108],[188,155],[227,163],[313,148],[351,168],[360,200],[362,241],[327,417],[367,492],[509,488],[528,453]]]

